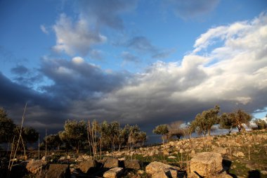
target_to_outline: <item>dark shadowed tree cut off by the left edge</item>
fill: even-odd
[[[15,124],[8,118],[6,110],[0,108],[0,144],[11,143],[14,136]]]

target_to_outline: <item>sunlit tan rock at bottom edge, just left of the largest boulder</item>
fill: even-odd
[[[152,178],[158,177],[159,174],[162,177],[177,177],[178,170],[180,170],[179,167],[166,165],[157,161],[154,161],[145,167],[145,172],[151,174]]]

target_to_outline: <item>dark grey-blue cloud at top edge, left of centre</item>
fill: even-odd
[[[136,4],[136,0],[83,0],[79,1],[79,8],[83,18],[89,20],[93,18],[97,25],[106,25],[121,30],[124,24],[119,13],[133,10]]]

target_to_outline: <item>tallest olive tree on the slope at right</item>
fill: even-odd
[[[211,127],[219,122],[218,114],[220,112],[219,106],[214,106],[209,110],[204,110],[201,114],[197,114],[195,120],[192,122],[194,129],[204,136],[211,135]]]

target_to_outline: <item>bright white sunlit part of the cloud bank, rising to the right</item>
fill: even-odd
[[[107,94],[99,105],[121,108],[136,120],[148,117],[148,113],[150,117],[157,112],[184,113],[187,105],[190,109],[209,103],[223,103],[225,108],[238,103],[251,110],[266,107],[267,96],[262,95],[267,92],[266,25],[264,14],[252,21],[207,30],[196,40],[195,51],[181,63],[155,63]],[[214,44],[214,39],[222,45],[198,54]]]

